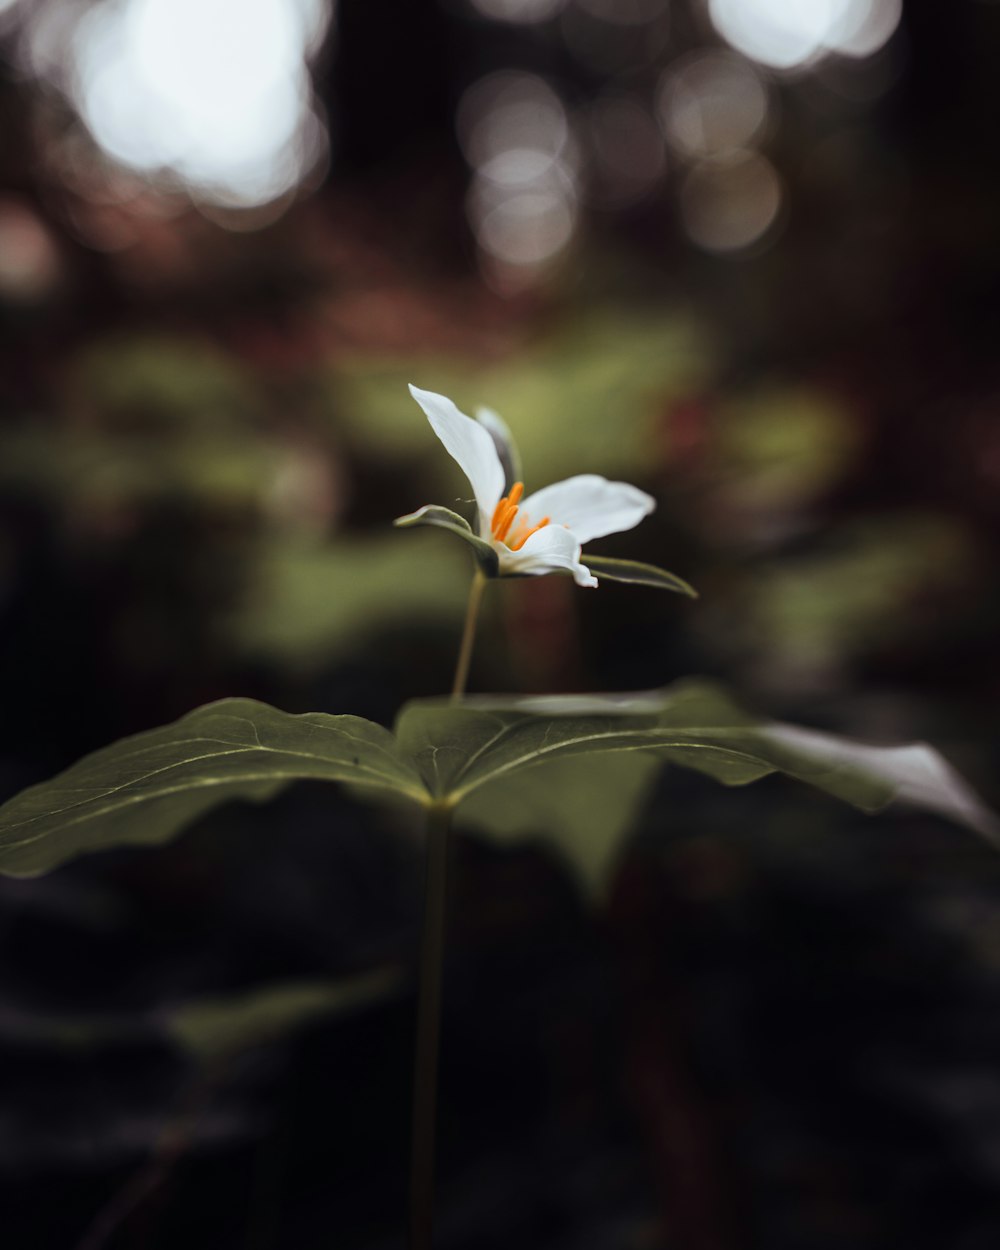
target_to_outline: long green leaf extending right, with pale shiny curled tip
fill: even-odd
[[[396,739],[430,792],[451,802],[549,760],[652,750],[724,785],[785,772],[865,811],[900,799],[1000,842],[996,818],[932,748],[870,746],[756,720],[704,682],[626,696],[415,702]]]

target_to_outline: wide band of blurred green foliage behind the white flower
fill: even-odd
[[[932,628],[929,596],[976,576],[962,522],[902,508],[824,518],[864,462],[861,414],[776,376],[721,388],[716,368],[704,326],[670,306],[582,306],[502,359],[370,351],[291,376],[200,338],[119,332],[70,360],[51,411],[0,428],[0,491],[41,504],[78,548],[160,505],[186,509],[200,575],[215,562],[230,588],[216,636],[235,656],[315,670],[402,622],[459,626],[466,554],[389,528],[431,502],[468,512],[468,482],[406,392],[415,381],[500,411],[530,486],[599,471],[669,501],[701,545],[679,571],[706,595],[682,620],[726,662],[765,656],[798,676]],[[694,452],[675,445],[685,404]]]

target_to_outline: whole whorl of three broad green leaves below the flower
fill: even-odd
[[[645,762],[592,764],[608,752],[651,754],[724,785],[785,772],[866,811],[901,799],[1000,842],[996,818],[931,748],[869,746],[761,721],[718,686],[681,682],[624,696],[419,700],[395,735],[356,716],[222,700],[11,799],[0,808],[0,871],[31,876],[101,848],[164,841],[224,800],[264,800],[316,779],[361,795],[461,804],[501,836],[544,826],[592,882],[649,776]]]

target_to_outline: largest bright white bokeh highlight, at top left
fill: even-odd
[[[74,32],[70,91],[121,164],[268,204],[321,155],[308,58],[329,20],[322,0],[105,0]]]

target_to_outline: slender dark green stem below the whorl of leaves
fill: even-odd
[[[438,1111],[438,1056],[441,972],[451,809],[428,809],[426,894],[416,1006],[412,1154],[410,1156],[410,1250],[431,1250],[434,1238],[434,1130]]]

